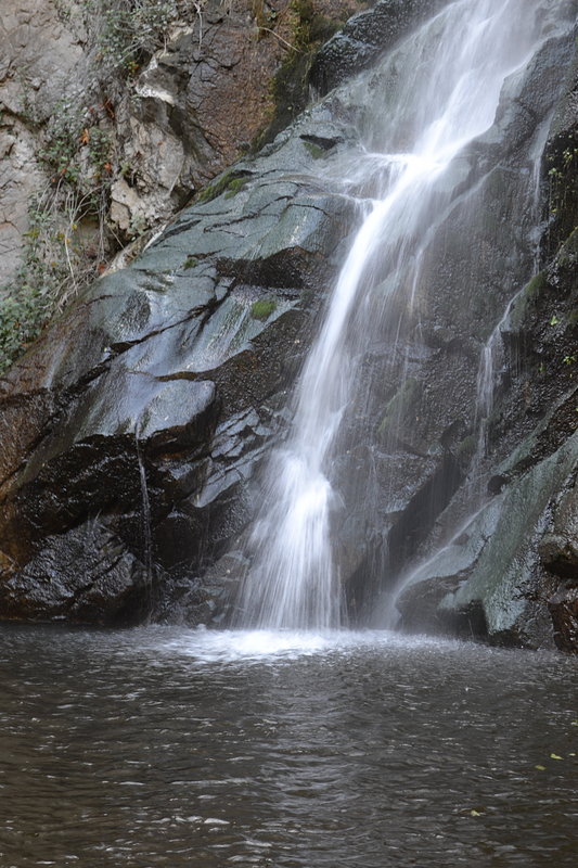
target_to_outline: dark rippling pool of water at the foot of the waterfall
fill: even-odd
[[[0,865],[577,864],[577,661],[0,627]]]

